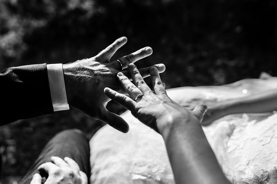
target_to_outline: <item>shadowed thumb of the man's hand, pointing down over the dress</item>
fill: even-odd
[[[106,108],[101,112],[101,116],[98,117],[99,120],[104,121],[111,127],[119,130],[120,132],[127,133],[129,131],[128,123],[117,114],[111,113]]]

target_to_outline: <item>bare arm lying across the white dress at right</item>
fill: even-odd
[[[277,110],[277,89],[218,102],[209,107],[201,125],[209,125],[212,121],[228,114],[267,113]]]

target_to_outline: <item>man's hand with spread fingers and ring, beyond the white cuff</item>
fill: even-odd
[[[117,73],[122,72],[130,78],[129,72],[123,70],[128,64],[134,63],[152,54],[152,48],[145,47],[132,54],[111,61],[114,53],[127,42],[126,37],[121,37],[97,56],[83,59],[74,63],[64,64],[64,80],[66,94],[70,106],[86,113],[90,117],[102,120],[121,132],[128,132],[129,126],[122,117],[106,109],[110,101],[103,90],[110,87],[118,92],[125,92],[118,82]],[[122,66],[121,66],[122,64]],[[154,65],[160,73],[165,71],[163,64]],[[151,67],[140,68],[143,77],[149,76]]]

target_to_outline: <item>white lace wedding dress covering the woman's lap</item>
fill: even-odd
[[[276,79],[247,79],[226,86],[176,88],[168,94],[186,105],[243,97],[274,86]],[[121,116],[129,123],[127,134],[106,125],[90,140],[91,183],[175,183],[162,136],[129,111]],[[277,113],[228,115],[203,130],[233,184],[277,183]]]

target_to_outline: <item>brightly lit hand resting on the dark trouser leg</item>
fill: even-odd
[[[48,178],[45,184],[87,184],[87,176],[80,171],[78,164],[68,157],[64,160],[52,156],[51,160],[54,163],[43,163],[38,167],[38,170],[44,170],[48,173]],[[40,174],[34,174],[30,184],[41,184],[42,177]]]

